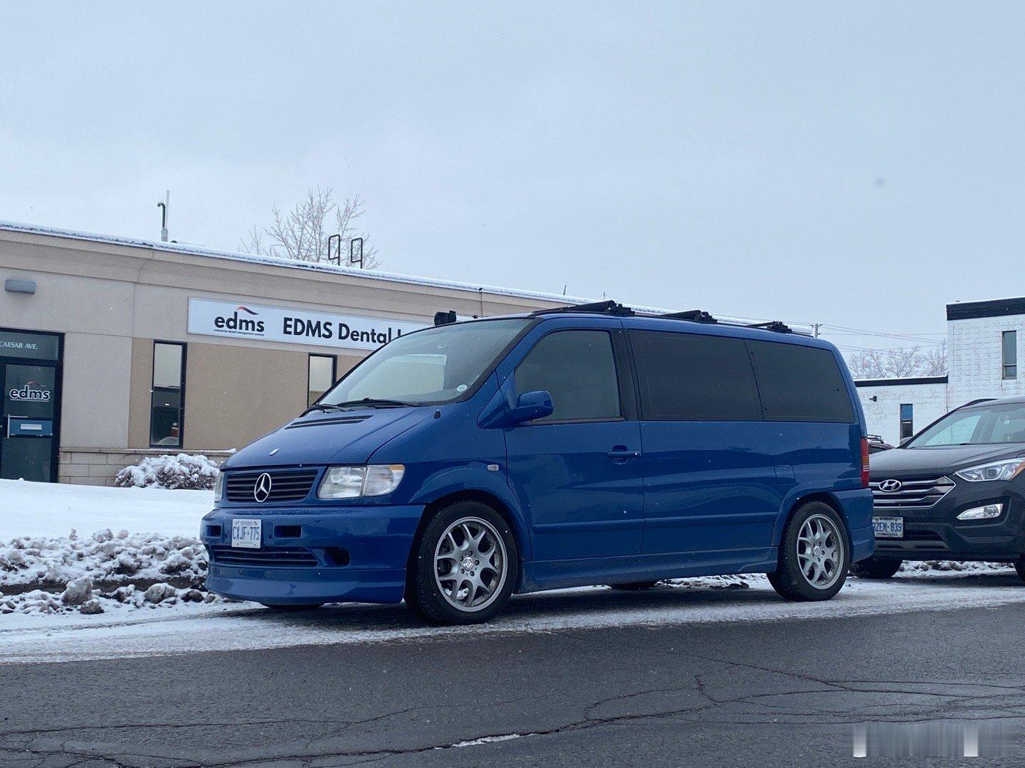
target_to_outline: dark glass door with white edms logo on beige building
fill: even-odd
[[[0,364],[0,478],[53,479],[56,369]]]

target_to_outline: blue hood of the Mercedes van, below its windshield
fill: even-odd
[[[315,411],[249,443],[224,469],[365,464],[374,451],[434,414],[433,408]],[[272,451],[277,451],[271,456]]]

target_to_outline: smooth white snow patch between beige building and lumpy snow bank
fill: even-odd
[[[195,537],[200,518],[212,507],[211,490],[0,480],[0,542],[27,536],[66,537],[73,528]]]

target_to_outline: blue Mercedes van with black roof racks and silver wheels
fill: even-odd
[[[207,586],[273,607],[768,573],[824,600],[872,554],[865,422],[827,342],[614,302],[440,312],[233,456]]]

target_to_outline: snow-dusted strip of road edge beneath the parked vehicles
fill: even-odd
[[[852,579],[832,600],[786,602],[764,577],[746,588],[691,579],[648,592],[597,587],[515,597],[487,625],[425,627],[400,605],[335,604],[280,613],[251,603],[181,604],[170,610],[102,615],[0,616],[0,663],[73,662],[300,645],[428,640],[491,633],[559,633],[624,626],[830,620],[1025,602],[1011,568],[974,573],[902,573],[889,582]]]

